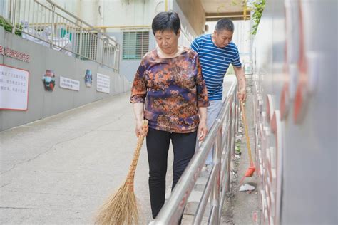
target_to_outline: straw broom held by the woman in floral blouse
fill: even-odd
[[[147,125],[148,120],[143,120],[143,130],[145,130]],[[103,206],[101,206],[101,209],[98,211],[98,216],[96,216],[96,224],[130,225],[138,223],[138,206],[134,194],[134,177],[143,140],[144,136],[140,135],[126,181],[106,200]]]

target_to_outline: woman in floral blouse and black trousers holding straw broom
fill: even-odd
[[[165,202],[165,174],[173,143],[173,188],[195,153],[197,135],[207,135],[208,93],[198,54],[178,46],[180,19],[162,12],[152,23],[158,48],[145,54],[135,75],[130,102],[136,135],[147,135],[150,203],[153,218]],[[142,129],[142,120],[149,121]]]

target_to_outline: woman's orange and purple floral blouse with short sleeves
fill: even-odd
[[[198,108],[209,105],[198,54],[189,48],[175,58],[159,58],[157,49],[145,54],[130,103],[145,103],[150,128],[180,133],[197,130]]]

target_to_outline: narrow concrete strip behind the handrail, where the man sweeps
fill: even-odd
[[[227,94],[227,90],[229,90],[232,82],[235,81],[234,75],[228,75],[225,78],[224,83],[224,93]],[[245,104],[245,112],[247,116],[248,122],[248,130],[250,137],[250,146],[252,150],[252,158],[255,162],[255,147],[254,147],[254,123],[253,123],[253,103],[252,103],[252,93],[251,88],[247,88],[247,100]],[[239,184],[240,179],[244,176],[247,168],[250,167],[249,157],[247,152],[247,145],[244,133],[244,127],[241,125],[241,132],[238,134],[241,137],[240,142],[240,157],[235,157],[232,159],[232,174],[231,174],[231,192],[227,194],[227,198],[225,199],[225,204],[223,205],[222,217],[220,219],[220,224],[224,225],[232,225],[232,224],[260,224],[260,211],[259,211],[259,199],[257,195],[257,174],[255,173],[253,177],[246,178],[243,184],[250,184],[255,187],[255,190],[252,192],[239,192]],[[202,184],[198,184],[195,190],[190,194],[188,199],[187,208],[185,209],[185,214],[183,216],[183,225],[192,224],[193,216],[190,214],[195,214],[195,210],[198,207],[199,199],[202,195],[202,191],[205,187],[205,183],[207,181],[206,177],[200,177],[198,182]],[[208,208],[208,206],[207,206]],[[209,208],[208,208],[209,209]],[[203,217],[202,224],[208,224],[208,209],[205,212],[205,216]]]

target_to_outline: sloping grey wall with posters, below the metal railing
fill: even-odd
[[[31,56],[31,61],[26,63],[0,55],[1,64],[29,70],[28,110],[24,112],[0,110],[0,130],[23,125],[130,90],[128,80],[119,74],[113,73],[110,68],[100,66],[100,64],[93,61],[81,61],[77,58],[66,56],[58,51],[53,51],[45,46],[7,33],[3,28],[0,28],[0,45]],[[53,70],[56,75],[56,87],[53,92],[44,90],[41,81],[47,69]],[[91,88],[87,88],[84,82],[86,69],[90,69],[93,74]],[[110,94],[96,91],[96,73],[110,76]],[[60,76],[79,80],[80,90],[60,88]]]

